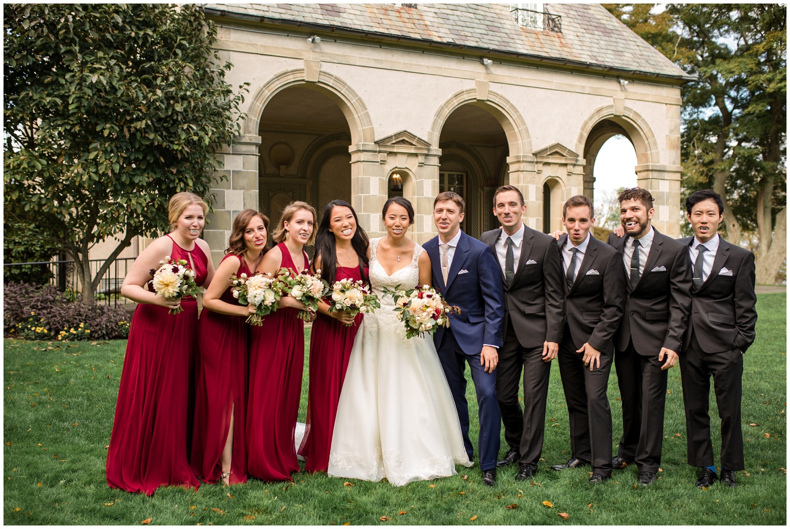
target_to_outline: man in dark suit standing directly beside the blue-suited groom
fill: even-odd
[[[514,186],[494,192],[494,213],[502,229],[480,237],[494,250],[505,283],[503,345],[496,395],[510,445],[503,466],[518,462],[516,479],[535,474],[543,449],[551,360],[557,357],[564,322],[562,264],[557,241],[521,222],[524,197]],[[524,411],[518,382],[524,370]]]

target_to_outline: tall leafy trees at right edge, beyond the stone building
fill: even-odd
[[[605,6],[698,73],[682,92],[683,188],[727,197],[726,238],[738,244],[743,230],[757,231],[757,281],[774,283],[786,253],[786,6]]]

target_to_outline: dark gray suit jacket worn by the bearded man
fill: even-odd
[[[626,276],[626,305],[623,323],[615,334],[615,347],[625,351],[628,341],[642,356],[658,355],[661,347],[680,353],[688,343],[683,341],[691,313],[691,264],[688,247],[674,238],[660,234],[655,227],[645,270],[631,289]],[[608,244],[620,253],[630,237],[609,235]],[[656,270],[656,268],[664,270]],[[625,270],[623,263],[623,270]]]

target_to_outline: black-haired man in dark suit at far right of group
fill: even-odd
[[[680,357],[680,373],[688,462],[702,468],[698,487],[717,480],[708,415],[711,375],[721,418],[721,482],[736,486],[735,471],[745,468],[741,376],[743,353],[754,342],[757,322],[754,253],[717,234],[723,212],[724,201],[712,189],[692,194],[686,199],[686,218],[694,237],[679,239],[693,268],[690,340]]]

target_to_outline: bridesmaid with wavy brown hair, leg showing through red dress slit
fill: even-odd
[[[225,257],[203,296],[190,463],[206,483],[230,485],[247,478],[245,320],[255,310],[233,297],[231,276],[253,275],[266,251],[268,227],[269,218],[254,209],[236,216]]]

